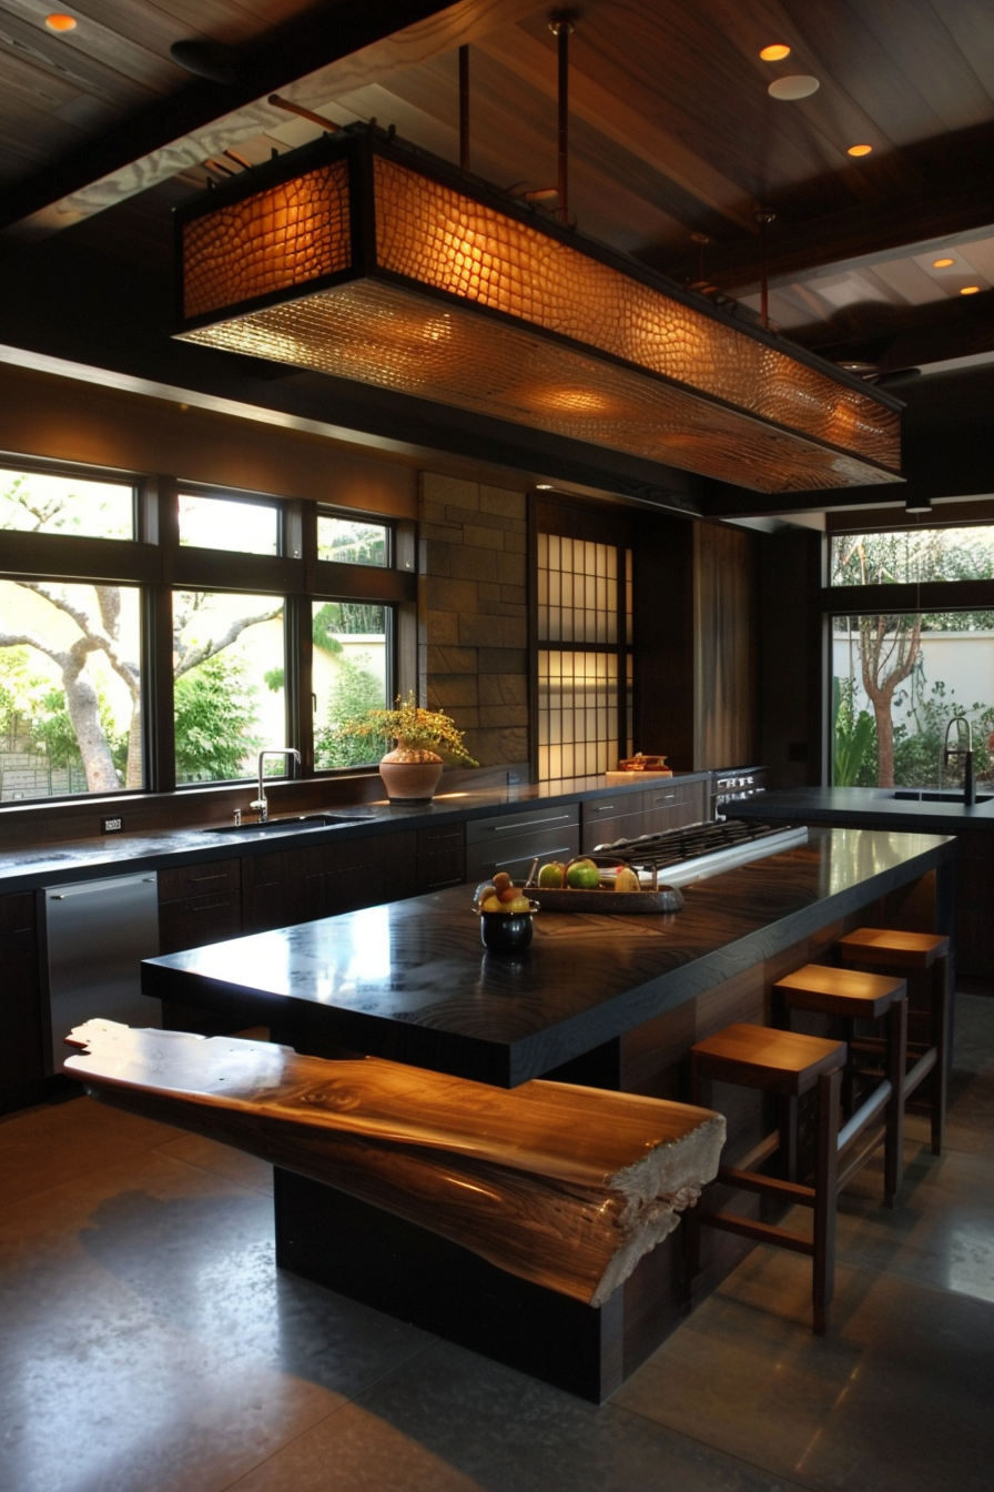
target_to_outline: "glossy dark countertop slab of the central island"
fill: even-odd
[[[951,862],[952,839],[812,830],[684,888],[659,916],[539,913],[531,947],[480,943],[465,886],[143,964],[143,991],[225,1012],[258,997],[300,1050],[340,1041],[501,1086],[539,1077]]]

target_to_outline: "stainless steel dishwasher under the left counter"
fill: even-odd
[[[49,1073],[72,1056],[66,1035],[92,1016],[161,1026],[162,1006],[140,992],[143,958],[159,950],[155,871],[46,886],[45,946],[51,1047]]]

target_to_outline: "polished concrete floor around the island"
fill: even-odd
[[[273,1267],[270,1173],[88,1098],[0,1120],[3,1492],[988,1492],[994,997],[946,1153],[842,1200],[836,1303],[757,1249],[596,1408]]]

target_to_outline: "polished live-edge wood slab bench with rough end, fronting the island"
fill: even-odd
[[[718,1168],[708,1109],[88,1021],[66,1070],[103,1103],[247,1150],[601,1306]]]

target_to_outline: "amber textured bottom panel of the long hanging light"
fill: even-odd
[[[185,333],[191,342],[508,419],[757,492],[899,480],[762,419],[557,345],[361,280]]]

